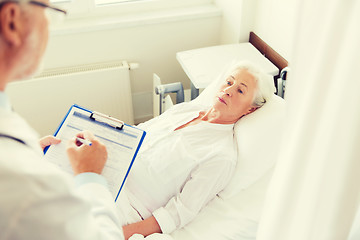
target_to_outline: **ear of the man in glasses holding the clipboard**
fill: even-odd
[[[22,42],[21,9],[18,4],[8,2],[0,9],[0,32],[3,40],[10,46],[19,46]]]

